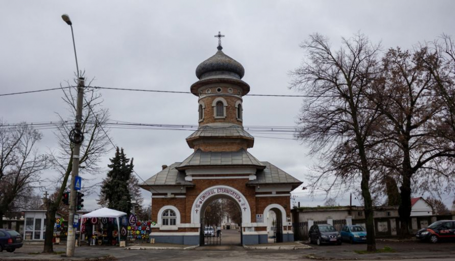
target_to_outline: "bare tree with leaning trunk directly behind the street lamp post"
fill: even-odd
[[[90,84],[88,84],[89,86]],[[54,234],[55,214],[61,205],[62,196],[69,186],[68,178],[72,169],[73,144],[69,140],[69,133],[73,128],[76,113],[77,88],[68,88],[63,90],[63,101],[68,106],[70,116],[68,120],[58,114],[62,124],[59,126],[55,135],[58,139],[59,148],[57,151],[50,152],[50,158],[54,169],[60,174],[55,183],[58,184],[58,192],[54,198],[46,202],[47,226],[45,231],[43,252],[53,252],[52,238]],[[95,89],[85,87],[84,102],[82,106],[82,132],[84,140],[80,148],[79,176],[89,180],[89,174],[98,174],[100,167],[98,163],[101,157],[111,148],[107,136],[106,127],[103,125],[109,119],[107,109],[101,108],[101,94]],[[85,191],[89,192],[90,188]],[[85,192],[84,191],[84,192]]]

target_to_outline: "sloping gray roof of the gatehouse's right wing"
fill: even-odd
[[[292,184],[301,184],[302,182],[283,170],[279,169],[277,166],[272,165],[269,162],[261,162],[265,165],[265,169],[258,170],[256,173],[256,179],[248,182],[250,185],[255,184],[279,184],[279,183],[292,183]]]

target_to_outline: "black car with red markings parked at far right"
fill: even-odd
[[[442,239],[455,239],[455,221],[436,221],[427,228],[417,231],[416,237],[421,241],[428,240],[436,243]]]

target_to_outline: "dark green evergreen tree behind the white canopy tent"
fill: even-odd
[[[131,195],[128,189],[128,181],[133,172],[133,159],[126,158],[123,148],[117,147],[115,156],[109,159],[111,169],[103,182],[100,198],[106,202],[106,206],[127,214],[131,211]]]

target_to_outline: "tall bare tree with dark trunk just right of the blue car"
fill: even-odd
[[[365,204],[367,250],[376,250],[370,182],[373,160],[370,148],[376,145],[373,133],[380,125],[377,108],[363,96],[371,88],[378,70],[379,45],[356,35],[344,39],[332,51],[320,34],[310,35],[301,44],[308,62],[291,74],[291,87],[307,97],[301,108],[297,138],[311,146],[310,155],[320,155],[320,175],[313,177],[312,189],[326,185],[347,187],[360,179]]]

